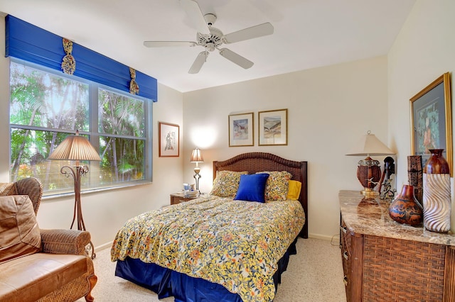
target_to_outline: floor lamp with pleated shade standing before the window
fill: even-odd
[[[87,138],[79,136],[79,131],[76,130],[75,135],[68,135],[63,142],[55,148],[50,154],[48,160],[75,160],[75,166],[63,166],[60,169],[60,173],[64,174],[65,177],[73,177],[74,180],[74,215],[73,222],[71,223],[70,229],[73,229],[75,220],[77,220],[77,230],[86,230],[84,219],[82,218],[82,206],[80,204],[80,178],[88,173],[88,167],[86,165],[81,166],[80,160],[95,160],[100,161],[101,157],[98,152],[90,144]],[[95,259],[95,247],[93,246],[92,240],[90,240],[90,249],[92,250],[91,258]],[[90,250],[87,246],[87,255]]]

